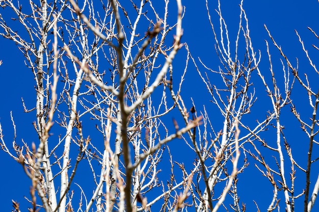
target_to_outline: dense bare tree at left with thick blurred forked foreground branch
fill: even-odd
[[[2,137],[3,150],[32,180],[33,211],[36,196],[45,211],[73,210],[70,186],[82,160],[89,164],[95,192],[81,194],[86,200],[81,210],[89,211],[95,204],[98,211],[131,211],[138,209],[138,201],[146,209],[161,198],[147,204],[142,194],[157,187],[163,145],[197,126],[200,119],[174,132],[166,131],[162,122],[174,108],[167,101],[171,83],[166,74],[181,47],[183,9],[180,1],[176,3],[175,23],[169,24],[169,1],[162,2],[161,14],[151,1],[131,3],[129,11],[117,1],[30,2],[25,11],[19,2],[2,1],[27,34],[17,33],[1,17],[2,35],[19,45],[35,76],[36,105],[24,108],[37,111],[34,127],[40,142],[20,146],[14,141],[12,153]],[[153,100],[156,87],[162,92]],[[99,140],[84,137],[82,120],[89,119],[98,123]],[[58,136],[50,136],[54,123],[60,128]],[[180,185],[184,182],[181,179]]]

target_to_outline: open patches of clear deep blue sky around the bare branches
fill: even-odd
[[[122,2],[124,5],[124,1]],[[22,4],[28,3],[26,2]],[[187,42],[194,57],[200,57],[208,67],[217,70],[220,64],[214,49],[215,42],[208,22],[205,1],[182,1],[182,4],[185,6],[185,15],[182,22],[182,28],[184,32],[182,42]],[[218,28],[217,24],[219,22],[219,18],[215,12],[215,9],[217,9],[217,1],[209,1],[208,4],[212,20]],[[230,39],[233,42],[231,45],[234,45],[235,36],[238,29],[238,15],[240,14],[240,8],[238,4],[240,4],[239,1],[228,0],[222,1],[221,3],[222,13],[228,25]],[[171,1],[170,6],[172,7],[171,12],[175,12],[176,3]],[[295,29],[303,38],[303,41],[306,47],[309,49],[310,55],[312,56],[313,62],[317,63],[319,54],[318,52],[314,51],[313,48],[311,48],[311,45],[317,45],[318,40],[316,40],[307,27],[311,27],[319,34],[319,3],[315,0],[245,0],[244,9],[249,20],[254,49],[260,49],[261,51],[261,68],[264,70],[264,73],[268,73],[269,71],[268,56],[265,51],[266,47],[264,40],[268,40],[271,44],[271,40],[269,39],[267,32],[263,27],[263,24],[266,24],[268,29],[271,31],[272,36],[275,38],[276,42],[281,45],[283,51],[287,54],[289,59],[295,62],[294,59],[298,57],[300,73],[307,73],[310,76],[310,81],[314,82],[314,86],[317,86],[314,87],[314,90],[316,90],[319,87],[319,83],[315,84],[315,82],[319,82],[318,76],[313,73],[309,66],[309,62],[306,59],[298,41],[298,37],[295,34]],[[11,15],[6,9],[4,10],[2,8],[0,8],[0,14],[2,14],[3,17],[9,17]],[[170,18],[175,18],[174,13],[170,15]],[[34,117],[25,115],[21,103],[21,97],[23,97],[25,102],[30,102],[32,100],[35,101],[33,74],[30,70],[28,70],[28,68],[25,67],[23,55],[18,50],[17,45],[15,45],[12,41],[1,37],[0,46],[0,60],[3,62],[3,64],[0,66],[0,122],[3,126],[5,139],[9,144],[13,138],[12,122],[10,118],[10,111],[12,111],[18,132],[17,141],[20,142],[23,138],[25,141],[28,139],[27,142],[34,141],[38,143],[37,135],[32,125],[32,118]],[[276,60],[276,57],[279,55],[278,51],[272,45],[270,46],[273,59]],[[178,52],[176,60],[174,60],[173,63],[175,69],[181,64],[181,72],[184,68],[185,55],[186,51],[182,49],[180,52]],[[277,59],[276,63],[278,64],[275,64],[277,65],[275,74],[281,74],[282,68],[280,66],[279,59]],[[184,82],[184,90],[182,95],[184,98],[187,96],[189,97],[188,104],[191,103],[191,98],[193,98],[194,102],[198,104],[197,110],[201,110],[203,108],[203,104],[209,108],[209,104],[211,103],[209,103],[210,99],[209,96],[207,96],[208,93],[205,90],[204,84],[201,82],[195,68],[192,65],[189,69],[190,70],[186,75],[187,79]],[[218,84],[219,82],[216,81],[215,83]],[[255,84],[257,87],[258,83],[261,83],[261,81],[256,81]],[[196,89],[193,89],[194,87],[196,87]],[[292,93],[292,97],[295,101],[294,103],[299,106],[300,111],[304,110],[305,117],[310,117],[311,112],[309,112],[306,93],[304,90],[299,88],[300,85],[296,83],[296,87]],[[199,90],[201,90],[201,92],[199,92]],[[264,88],[261,87],[260,90],[262,93]],[[258,112],[262,111],[262,113],[265,114],[267,111],[262,110],[263,108],[267,108],[267,104],[269,104],[263,102],[263,99],[268,100],[267,98],[260,98],[260,101],[258,101],[254,106],[255,110],[252,111],[252,115],[250,116],[252,122],[255,122],[255,115],[257,117]],[[288,110],[289,107],[287,108],[287,111]],[[284,123],[286,128],[285,133],[287,135],[289,144],[292,147],[296,147],[300,151],[300,157],[305,157],[308,139],[303,134],[300,124],[292,115],[287,116],[287,119],[284,120]],[[222,123],[220,123],[220,126],[222,128]],[[178,149],[180,146],[174,146],[174,144],[172,144],[172,150],[174,150],[174,148]],[[298,158],[299,153],[297,150],[295,151],[295,156]],[[178,151],[176,150],[176,152]],[[315,152],[315,154],[316,153],[318,152]],[[188,158],[183,157],[183,154],[181,154],[180,158],[182,162],[186,163],[188,161]],[[300,158],[300,161],[303,161],[303,159]],[[304,161],[306,160],[304,159]],[[246,170],[247,175],[245,176],[249,176],[250,174],[257,172],[257,169],[254,168],[253,163],[254,161],[251,161],[251,166]],[[303,165],[306,164],[303,163]],[[31,181],[25,176],[22,167],[18,163],[13,161],[8,155],[1,151],[0,166],[2,170],[2,173],[0,174],[0,202],[2,203],[1,210],[11,211],[11,200],[14,199],[20,202],[21,209],[26,211],[26,205],[30,205],[26,203],[23,196],[30,196],[29,188]],[[315,166],[314,168],[316,169],[312,170],[313,183],[317,177],[317,174],[319,173],[318,166]],[[242,186],[238,189],[240,189],[241,201],[247,204],[247,211],[256,211],[252,201],[254,199],[258,199],[258,205],[261,211],[265,211],[272,197],[272,188],[267,189],[271,185],[265,178],[254,179],[243,177],[241,180],[243,180],[245,183],[241,184]],[[300,175],[297,177],[302,178],[304,176]],[[304,180],[302,183],[304,184]],[[262,189],[256,191],[256,186],[261,186]],[[296,190],[299,189],[300,192],[301,190],[298,188],[298,185],[296,187]],[[313,184],[311,188],[313,188]],[[256,196],[263,195],[265,196],[263,200],[262,198],[255,198]],[[302,210],[303,200],[304,199],[301,198],[297,201],[298,205],[296,203],[296,211]],[[283,199],[281,201],[281,203],[284,202]],[[282,211],[283,210],[284,209],[282,209]],[[313,208],[313,211],[317,210],[319,210],[319,203],[316,203]],[[223,208],[221,208],[221,211],[224,211]]]

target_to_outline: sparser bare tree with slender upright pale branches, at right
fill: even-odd
[[[311,211],[313,203],[315,201],[315,197],[318,192],[318,180],[315,185],[312,185],[313,192],[310,195],[310,170],[313,166],[313,163],[317,159],[316,156],[311,156],[313,153],[313,145],[317,144],[314,140],[314,136],[318,133],[316,129],[316,111],[317,106],[315,102],[317,102],[318,93],[315,92],[311,86],[307,73],[305,73],[305,80],[303,80],[298,73],[298,63],[297,67],[294,67],[286,54],[283,52],[281,47],[276,43],[275,39],[272,37],[270,31],[267,26],[265,26],[266,31],[269,34],[269,38],[271,39],[274,46],[279,50],[280,55],[283,59],[280,59],[282,64],[282,74],[278,74],[279,71],[275,71],[273,67],[273,58],[271,57],[271,53],[269,50],[269,44],[266,41],[267,46],[267,54],[269,58],[269,71],[265,72],[262,67],[260,67],[260,52],[254,50],[252,45],[252,40],[250,37],[248,19],[246,16],[246,12],[243,9],[243,1],[240,4],[240,17],[239,17],[239,27],[238,33],[235,38],[235,45],[232,49],[230,45],[231,40],[228,35],[227,23],[222,15],[221,4],[218,1],[218,10],[217,14],[219,16],[219,34],[217,32],[216,27],[214,26],[214,21],[211,18],[210,10],[208,7],[208,1],[206,1],[206,8],[208,12],[208,17],[210,20],[210,25],[213,33],[213,37],[215,38],[215,47],[216,52],[220,59],[220,67],[219,70],[212,70],[205,66],[205,64],[199,59],[199,63],[204,67],[208,72],[203,72],[201,68],[198,67],[196,60],[192,58],[195,67],[203,80],[204,84],[207,87],[212,99],[212,103],[216,105],[218,111],[224,117],[224,125],[223,130],[220,133],[215,133],[215,137],[219,137],[221,134],[221,140],[218,143],[218,147],[215,147],[216,156],[214,157],[214,163],[207,163],[205,161],[208,159],[205,155],[206,149],[211,152],[210,148],[204,143],[200,143],[198,146],[203,146],[201,149],[196,149],[198,157],[202,163],[202,176],[205,181],[205,191],[199,198],[199,204],[197,210],[206,211],[206,206],[208,205],[210,208],[213,207],[211,203],[211,198],[214,195],[214,187],[216,187],[217,183],[221,183],[222,181],[226,181],[224,184],[224,191],[220,193],[216,198],[216,205],[214,205],[214,209],[212,211],[216,211],[221,203],[223,203],[225,199],[225,195],[228,192],[229,195],[233,198],[233,204],[230,205],[234,211],[245,211],[245,205],[243,204],[240,207],[240,196],[237,193],[237,179],[238,173],[242,173],[243,170],[248,166],[247,161],[249,161],[248,156],[252,157],[256,160],[255,166],[261,172],[262,176],[266,177],[269,180],[270,185],[273,188],[273,198],[269,204],[268,211],[273,211],[278,208],[279,210],[279,196],[284,197],[284,205],[286,211],[295,211],[295,200],[298,198],[304,198],[304,211]],[[315,35],[317,35],[312,31],[311,28],[309,30]],[[296,31],[297,33],[297,31]],[[302,44],[302,49],[306,53],[306,57],[309,60],[310,66],[314,69],[315,74],[318,74],[314,63],[312,62],[308,51],[304,47],[302,39],[297,33],[297,36]],[[241,47],[240,39],[244,38],[246,46]],[[318,49],[315,45],[313,45],[315,49]],[[259,56],[258,56],[259,55]],[[244,56],[244,57],[243,57]],[[283,62],[285,61],[285,63]],[[298,62],[298,61],[297,61]],[[250,113],[254,108],[252,107],[255,101],[257,100],[255,96],[255,88],[253,86],[253,72],[256,72],[259,76],[264,88],[266,90],[267,96],[269,97],[269,101],[272,105],[268,110],[267,116],[260,120],[260,117],[257,117],[257,123],[252,125],[250,120],[247,120],[245,117],[248,113]],[[276,73],[276,74],[275,74]],[[292,73],[292,76],[291,74]],[[270,75],[271,81],[266,80]],[[266,76],[266,77],[265,77]],[[212,79],[218,79],[224,82],[224,86],[218,87],[216,81],[212,81]],[[282,80],[280,79],[282,78]],[[282,81],[282,83],[278,84],[277,81]],[[312,113],[308,114],[311,120],[311,123],[305,122],[299,112],[297,112],[296,107],[294,106],[294,100],[291,99],[291,91],[293,90],[293,85],[295,80],[302,85],[307,90],[309,96],[309,105],[312,108]],[[254,78],[256,81],[256,78]],[[295,101],[299,101],[296,99]],[[282,110],[285,107],[291,107],[292,113],[288,114],[291,117],[291,114],[294,114],[298,121],[301,124],[303,131],[306,133],[309,138],[309,150],[307,156],[307,167],[302,167],[300,162],[296,160],[294,157],[293,149],[290,148],[289,140],[286,139],[285,131],[284,131],[284,122],[287,114],[285,116],[282,115]],[[216,109],[212,110],[216,111]],[[215,115],[205,115],[203,116],[205,127],[210,126],[210,131],[218,132],[218,127],[212,125],[212,120],[209,120],[209,117],[215,117]],[[248,122],[247,122],[248,121]],[[238,123],[239,127],[242,128],[241,136],[236,137],[238,130],[236,130],[236,123]],[[274,131],[267,131],[270,127],[273,127]],[[276,142],[273,142],[271,139],[271,135],[274,134],[276,137]],[[206,130],[203,133],[203,141],[209,140],[206,137]],[[211,139],[211,138],[210,138]],[[238,142],[238,144],[237,144]],[[258,147],[258,142],[263,146],[262,149]],[[293,141],[291,141],[293,142]],[[213,142],[214,143],[214,142]],[[214,143],[215,144],[215,143]],[[237,166],[237,148],[236,144],[242,148],[242,152],[244,153],[244,163],[242,167],[238,167],[234,169],[232,172],[228,173],[227,163],[230,161],[235,168]],[[195,145],[196,146],[196,145]],[[272,158],[267,157],[269,154],[269,150],[271,152]],[[298,149],[295,149],[295,154],[298,154]],[[236,152],[236,154],[235,154]],[[267,154],[268,153],[268,154]],[[234,157],[236,156],[236,157]],[[228,157],[228,158],[227,158]],[[232,160],[229,160],[230,157],[234,157]],[[273,165],[274,164],[274,165]],[[289,165],[288,165],[289,164]],[[287,170],[287,166],[290,166],[290,169]],[[296,182],[296,169],[298,171],[305,173],[306,183],[303,187],[304,190],[295,191]],[[206,174],[205,174],[206,172]],[[302,173],[301,173],[302,174]],[[245,176],[244,176],[245,177]],[[298,184],[301,184],[298,181]],[[282,194],[280,194],[282,192]],[[195,196],[195,195],[194,195]],[[215,194],[216,196],[216,194]],[[257,201],[257,200],[256,200]],[[255,202],[257,209],[258,203]],[[205,206],[206,205],[206,206]],[[226,206],[225,206],[226,207]],[[228,208],[228,207],[227,207]]]

